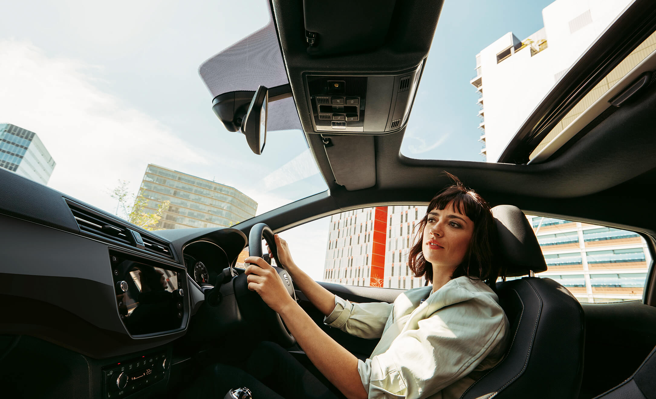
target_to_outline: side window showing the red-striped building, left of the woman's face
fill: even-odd
[[[367,207],[308,222],[280,236],[294,261],[316,281],[411,289],[426,282],[407,266],[411,228],[425,214],[425,206]]]

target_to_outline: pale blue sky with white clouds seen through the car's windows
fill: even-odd
[[[475,56],[508,31],[523,39],[541,29],[551,2],[445,1],[403,154],[483,161]],[[10,16],[0,24],[0,123],[39,135],[57,163],[50,187],[113,212],[118,180],[136,193],[156,163],[234,186],[258,214],[326,189],[300,131],[270,133],[255,156],[216,119],[197,75],[268,23],[265,0],[5,1],[0,14]],[[327,226],[287,232],[317,279]]]

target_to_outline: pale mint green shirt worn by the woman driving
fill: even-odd
[[[497,294],[466,276],[431,291],[430,285],[410,289],[393,304],[335,295],[325,324],[380,338],[369,359],[358,360],[369,398],[457,399],[501,362],[510,326]]]

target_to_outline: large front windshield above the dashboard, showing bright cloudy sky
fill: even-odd
[[[1,9],[12,16],[0,26],[1,167],[31,162],[43,177],[26,177],[155,229],[232,226],[326,190],[302,131],[269,132],[256,156],[213,114],[198,75],[268,24],[266,2]],[[38,146],[36,158],[19,146]]]

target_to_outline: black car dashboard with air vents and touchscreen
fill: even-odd
[[[241,327],[234,295],[207,309],[202,290],[241,231],[155,234],[1,168],[0,192],[3,395],[159,396],[203,339]]]

